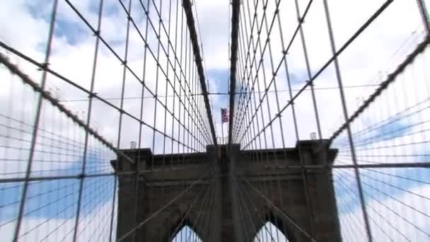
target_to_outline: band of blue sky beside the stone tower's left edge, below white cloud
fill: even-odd
[[[98,156],[96,152],[90,151],[86,163],[86,173],[108,173],[112,168],[106,168],[105,164],[110,163],[107,157]],[[35,162],[37,166],[37,162]],[[50,172],[45,175],[74,175],[81,173],[82,159],[69,163],[62,171]],[[40,176],[40,174],[36,174]],[[71,214],[76,213],[76,202],[79,197],[79,179],[65,180],[47,180],[37,181],[29,184],[27,200],[25,204],[25,213],[27,217],[57,217],[59,219],[73,217]],[[100,178],[86,178],[83,185],[83,214],[104,204],[112,202],[114,178],[112,176]],[[13,219],[18,214],[19,201],[21,200],[23,183],[2,184],[4,189],[0,206],[6,206],[1,209],[1,221]],[[8,188],[8,189],[6,189]],[[6,205],[7,204],[7,205]],[[45,207],[45,204],[49,204]],[[66,209],[64,212],[61,212]],[[61,213],[59,213],[61,212]],[[58,213],[58,214],[57,214]]]

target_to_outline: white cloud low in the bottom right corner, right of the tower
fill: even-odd
[[[428,233],[430,226],[429,217],[424,215],[427,211],[428,199],[417,195],[429,197],[430,187],[423,185],[412,188],[409,192],[395,196],[395,200],[386,196],[378,200],[368,200],[366,210],[373,241],[426,241],[429,238],[424,234]],[[351,201],[351,204],[356,202],[358,201]],[[405,204],[414,206],[418,212],[409,209]],[[366,233],[358,205],[342,207],[339,221],[344,241],[357,241],[357,238]]]

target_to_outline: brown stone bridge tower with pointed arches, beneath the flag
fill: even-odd
[[[292,242],[311,241],[306,234],[341,241],[330,169],[337,150],[326,141],[301,141],[289,149],[242,151],[233,144],[229,151],[208,146],[200,154],[124,153],[136,163],[112,161],[117,172],[130,174],[119,176],[117,236],[137,227],[125,241],[170,241],[182,226],[202,241],[252,241],[262,221]],[[238,196],[248,201],[252,216],[240,209]],[[204,224],[202,217],[211,219]]]

